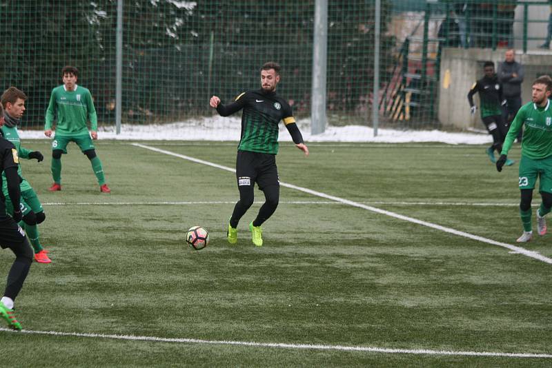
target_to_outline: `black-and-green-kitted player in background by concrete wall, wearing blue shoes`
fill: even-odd
[[[475,114],[477,107],[473,103],[473,95],[479,93],[481,120],[485,124],[487,131],[493,136],[493,145],[486,149],[491,162],[495,163],[495,151],[500,154],[504,136],[508,132],[508,127],[502,119],[502,107],[505,100],[502,96],[502,84],[498,81],[495,74],[495,64],[492,61],[486,61],[483,65],[485,75],[479,81],[473,83],[468,93],[471,114]],[[506,165],[513,165],[514,161],[509,160]]]

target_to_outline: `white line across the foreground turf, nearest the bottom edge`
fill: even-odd
[[[337,351],[365,351],[369,353],[382,354],[425,354],[444,356],[492,356],[506,358],[552,358],[552,354],[534,353],[503,353],[497,351],[452,351],[432,349],[391,349],[384,347],[344,346],[344,345],[313,345],[313,344],[287,344],[287,343],[255,343],[253,341],[228,341],[228,340],[201,340],[197,338],[161,338],[155,336],[133,336],[133,335],[108,335],[108,334],[83,334],[79,332],[57,332],[57,331],[32,331],[23,329],[13,331],[12,329],[0,328],[0,331],[12,332],[14,334],[32,334],[49,336],[68,336],[78,338],[103,338],[113,340],[152,341],[155,343],[184,343],[203,345],[235,345],[245,347],[268,347],[283,349],[312,349],[312,350],[337,350]]]

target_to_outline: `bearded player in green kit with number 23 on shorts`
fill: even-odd
[[[552,79],[540,76],[533,82],[533,102],[526,103],[515,115],[506,135],[502,154],[496,162],[500,172],[506,162],[508,151],[512,147],[517,132],[524,127],[522,141],[522,159],[520,161],[519,187],[521,191],[520,216],[523,234],[518,242],[531,241],[531,201],[533,189],[539,178],[539,192],[542,203],[537,209],[537,229],[540,235],[546,234],[544,215],[552,208],[552,106],[549,96],[552,91]]]

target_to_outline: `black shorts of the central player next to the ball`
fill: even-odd
[[[259,152],[238,151],[236,157],[236,178],[238,187],[253,186],[260,190],[270,185],[280,185],[276,155]]]

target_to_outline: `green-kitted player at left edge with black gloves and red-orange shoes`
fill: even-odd
[[[10,87],[5,90],[0,97],[1,105],[4,108],[3,125],[0,124],[3,136],[6,140],[10,141],[17,150],[17,154],[21,159],[37,159],[42,161],[44,157],[39,151],[31,151],[24,147],[21,147],[21,140],[19,139],[19,132],[17,132],[17,125],[21,121],[21,116],[25,112],[25,101],[27,95],[15,88]],[[3,185],[2,194],[6,198],[6,211],[8,214],[13,215],[14,209],[21,209],[23,214],[23,220],[19,225],[25,229],[27,236],[29,237],[32,248],[34,249],[34,260],[38,263],[50,263],[51,260],[48,257],[48,251],[43,249],[38,225],[46,219],[44,209],[39,201],[37,194],[34,192],[30,183],[23,178],[21,173],[21,165],[17,169],[17,174],[21,178],[21,197],[19,203],[12,203],[8,196],[8,184],[6,181],[6,174],[2,173]]]

